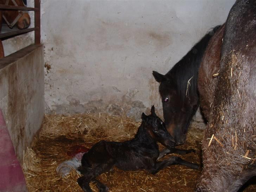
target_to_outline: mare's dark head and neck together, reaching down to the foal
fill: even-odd
[[[188,126],[198,108],[199,67],[209,40],[218,28],[216,26],[206,33],[166,75],[153,71],[155,80],[160,83],[166,128],[176,145],[184,143]]]

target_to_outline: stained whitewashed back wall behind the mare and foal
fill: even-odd
[[[152,70],[171,69],[235,0],[41,2],[46,112],[140,118],[161,109]]]

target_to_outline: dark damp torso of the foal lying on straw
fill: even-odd
[[[138,170],[152,165],[159,156],[156,141],[147,140],[150,137],[146,129],[139,128],[138,132],[145,132],[143,139],[135,136],[134,139],[124,142],[100,141],[96,143],[88,153],[84,154],[82,166],[96,167],[100,164],[111,162],[122,170]]]

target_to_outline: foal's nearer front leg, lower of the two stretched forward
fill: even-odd
[[[183,159],[181,159],[177,156],[172,156],[169,159],[164,160],[164,161],[156,161],[154,167],[151,168],[149,170],[149,172],[152,173],[152,174],[156,174],[161,169],[163,169],[165,167],[168,167],[170,165],[176,165],[176,164],[185,165],[185,166],[190,167],[192,169],[198,169],[199,168],[198,164],[185,161],[185,160],[183,160]]]

